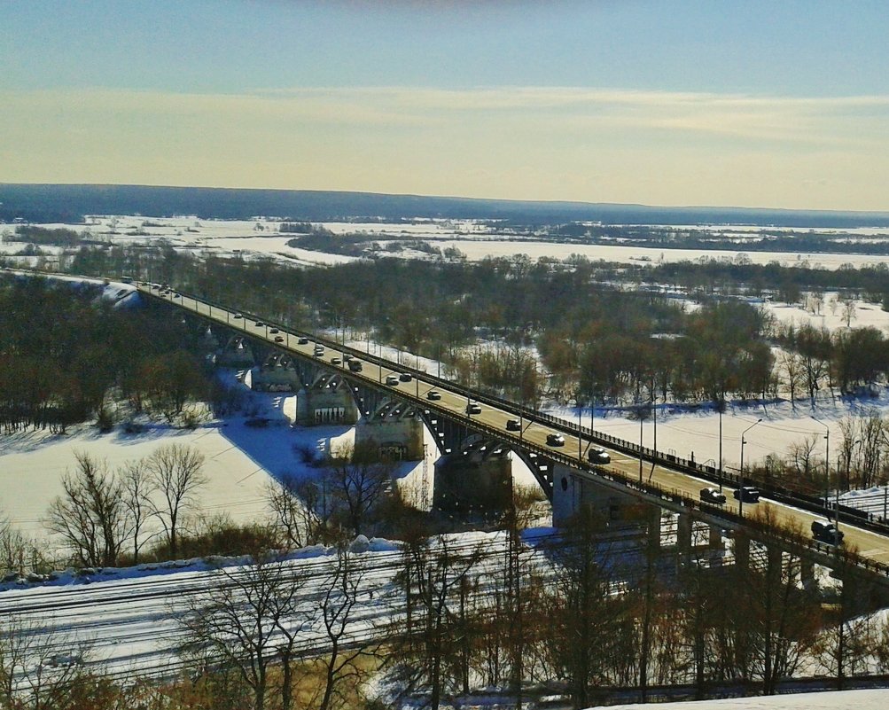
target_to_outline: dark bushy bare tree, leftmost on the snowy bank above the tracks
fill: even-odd
[[[77,468],[62,478],[46,526],[85,566],[114,565],[128,528],[123,487],[104,462],[76,452]]]

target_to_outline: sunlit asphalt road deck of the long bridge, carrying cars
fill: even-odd
[[[350,379],[385,389],[391,395],[418,403],[424,409],[438,411],[452,418],[463,419],[469,427],[485,435],[491,435],[519,449],[536,451],[571,467],[576,475],[589,477],[597,483],[628,492],[646,502],[679,512],[693,512],[693,515],[702,520],[727,528],[747,528],[749,532],[753,533],[753,537],[756,537],[757,533],[768,531],[768,526],[761,521],[764,516],[771,516],[771,519],[776,523],[798,530],[797,544],[803,544],[814,556],[829,562],[831,555],[829,547],[813,543],[807,538],[813,520],[824,517],[823,513],[819,514],[812,510],[813,506],[811,505],[809,506],[810,510],[805,510],[768,499],[766,493],[758,504],[747,503],[743,507],[743,517],[741,517],[738,502],[732,498],[731,491],[726,491],[728,500],[724,506],[717,507],[702,503],[699,499],[701,488],[712,485],[712,481],[676,470],[675,467],[645,462],[642,480],[640,480],[639,458],[627,453],[627,446],[619,448],[606,446],[606,449],[610,448],[612,463],[606,467],[592,467],[584,459],[584,453],[591,444],[602,443],[603,438],[595,433],[585,433],[576,425],[572,427],[569,422],[558,421],[545,414],[527,411],[518,405],[498,401],[489,395],[473,392],[456,383],[433,377],[428,373],[410,370],[377,355],[345,347],[331,339],[285,328],[277,323],[268,323],[261,316],[236,312],[228,307],[222,307],[172,290],[164,293],[156,288],[156,284],[138,283],[136,287],[141,293],[153,299],[183,308],[228,328],[243,331],[253,339],[268,343],[270,347],[280,348],[292,355],[323,364],[334,371],[341,371]],[[258,321],[262,325],[257,325]],[[278,332],[270,332],[272,327],[275,327]],[[277,338],[281,340],[276,341]],[[300,338],[308,339],[308,342],[300,344]],[[314,355],[316,344],[324,346],[324,355],[320,357]],[[343,355],[346,354],[360,359],[363,363],[363,370],[360,372],[350,371],[348,362],[343,358]],[[331,360],[334,357],[339,358],[340,363],[332,363]],[[395,375],[397,378],[403,372],[410,372],[411,381],[404,382],[399,379],[394,384],[387,384],[388,376]],[[428,399],[428,392],[433,389],[441,395],[440,399]],[[470,402],[480,403],[481,411],[475,414],[469,413]],[[521,420],[519,431],[507,430],[506,424],[509,419]],[[565,445],[549,446],[547,437],[552,434],[565,435]],[[887,537],[889,530],[866,529],[861,524],[856,526],[846,521],[842,523],[841,527],[845,532],[845,548],[857,551],[859,565],[869,568],[877,576],[889,580],[889,537]],[[871,526],[871,528],[873,527],[875,526]]]

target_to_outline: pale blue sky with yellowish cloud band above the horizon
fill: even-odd
[[[0,182],[889,210],[884,0],[5,0]]]

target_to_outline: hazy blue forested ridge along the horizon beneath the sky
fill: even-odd
[[[333,221],[373,219],[508,219],[527,225],[572,221],[607,224],[759,224],[780,227],[885,227],[886,212],[647,207],[635,204],[522,202],[320,190],[261,190],[133,185],[0,184],[0,220],[82,222],[87,214],[196,215],[202,219]]]

